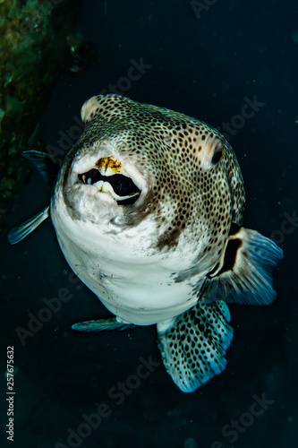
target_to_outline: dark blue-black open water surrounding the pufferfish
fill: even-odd
[[[71,282],[51,223],[18,246],[9,246],[4,236],[3,385],[6,345],[14,346],[17,367],[11,446],[297,446],[298,223],[283,227],[283,222],[297,211],[298,7],[273,0],[205,4],[211,3],[199,18],[188,1],[87,0],[79,30],[96,43],[101,63],[87,73],[61,77],[41,117],[40,135],[57,146],[59,131],[67,134],[76,125],[73,117],[80,116],[82,103],[118,82],[132,99],[173,108],[214,126],[232,120],[238,128],[232,128],[229,141],[246,184],[244,225],[275,237],[285,250],[275,272],[277,301],[268,307],[231,306],[234,340],[226,371],[197,392],[180,392],[160,364],[117,405],[108,391],[135,374],[139,358],[160,362],[155,328],[73,332],[72,323],[108,312],[86,287]],[[127,76],[132,59],[140,58],[150,67],[124,90],[127,84],[119,80]],[[244,123],[234,118],[245,98],[254,96],[264,103],[259,111]],[[16,198],[8,226],[47,205],[48,195],[42,178],[33,173]],[[62,288],[72,298],[22,345],[15,328],[28,329],[28,313],[38,315],[45,307],[42,299],[57,297]],[[263,405],[262,415],[251,417],[256,396],[264,394],[270,403]],[[1,401],[3,429],[4,394]],[[112,409],[111,415],[84,440],[69,444],[68,428],[77,433],[85,423],[83,414],[97,412],[101,403]],[[234,435],[229,432],[232,420],[241,422]]]

